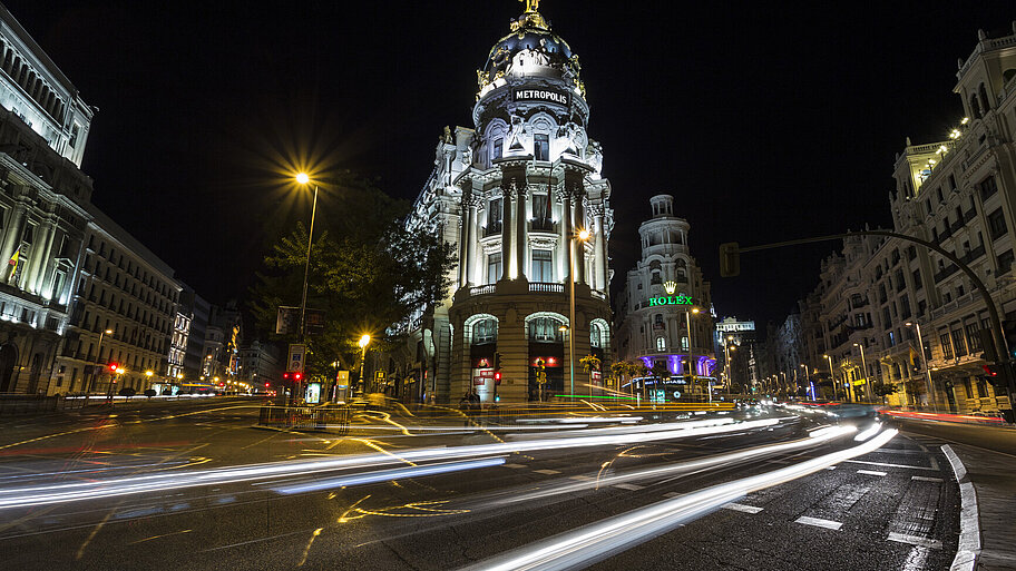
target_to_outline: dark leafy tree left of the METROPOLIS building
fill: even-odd
[[[409,205],[395,201],[370,181],[351,177],[334,201],[345,209],[319,211],[307,276],[307,308],[324,312],[324,328],[306,338],[307,378],[334,372],[332,363],[354,370],[356,341],[370,334],[371,351],[400,339],[419,308],[443,299],[455,264],[453,247],[436,234],[410,232],[402,224]],[[307,230],[296,229],[271,246],[251,291],[251,311],[268,338],[295,343],[299,333],[275,335],[279,306],[300,304],[307,255]],[[320,229],[319,229],[320,228]]]

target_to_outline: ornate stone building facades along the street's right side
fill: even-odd
[[[1010,355],[1016,348],[1016,26],[1012,32],[997,38],[978,32],[977,46],[958,61],[956,73],[954,92],[964,116],[940,141],[907,139],[896,156],[889,194],[895,232],[952,253],[984,283],[1004,322]],[[990,363],[980,334],[989,327],[987,305],[970,277],[945,256],[899,238],[849,237],[822,263],[811,299],[820,308],[815,319],[802,314],[802,331],[824,338],[815,351],[798,353],[810,356],[815,376],[827,382],[830,363],[815,361],[829,355],[840,398],[846,391],[851,400],[901,406],[1012,411],[1006,392],[996,390],[984,370]],[[833,396],[831,388],[824,396]]]

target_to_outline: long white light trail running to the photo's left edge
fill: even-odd
[[[377,467],[382,464],[395,462],[418,463],[447,460],[461,460],[478,456],[494,456],[511,453],[533,452],[541,450],[561,450],[589,446],[631,445],[642,442],[655,442],[693,436],[705,436],[730,432],[741,432],[749,429],[762,429],[778,424],[780,420],[768,419],[734,423],[730,419],[715,421],[693,421],[671,423],[664,430],[627,433],[634,427],[621,426],[603,429],[606,434],[587,435],[583,437],[559,437],[548,440],[531,440],[522,442],[499,442],[492,444],[476,444],[468,446],[451,446],[440,449],[416,449],[399,451],[398,457],[389,454],[361,454],[354,456],[333,457],[329,460],[305,459],[265,464],[248,464],[233,467],[209,470],[195,470],[189,472],[159,473],[150,475],[124,476],[108,480],[91,480],[85,482],[53,483],[49,485],[35,485],[27,488],[0,489],[0,510],[11,508],[28,508],[62,502],[78,502],[98,500],[131,494],[150,494],[163,491],[179,491],[186,488],[202,485],[235,484],[257,480],[279,479],[287,476],[305,476],[309,474],[349,470],[355,467]]]

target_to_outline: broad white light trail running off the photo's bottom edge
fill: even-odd
[[[892,440],[896,434],[895,429],[888,430],[851,449],[656,502],[575,531],[510,550],[465,567],[462,571],[559,571],[585,568],[671,531],[685,521],[716,510],[753,491],[779,485],[878,450]]]

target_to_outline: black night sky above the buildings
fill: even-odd
[[[244,297],[274,237],[263,228],[307,217],[307,200],[280,207],[292,204],[287,165],[351,169],[413,198],[442,128],[472,127],[475,70],[522,11],[3,1],[99,108],[82,165],[94,203],[214,303]],[[1016,8],[881,4],[541,2],[582,58],[614,187],[615,291],[654,194],[677,197],[717,313],[760,325],[813,288],[834,244],[745,255],[742,276],[723,279],[721,242],[891,224],[895,155],[907,136],[941,140],[958,122],[956,59],[978,28],[1012,33]]]

